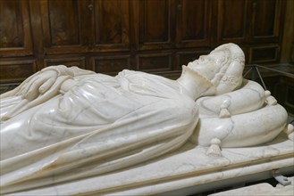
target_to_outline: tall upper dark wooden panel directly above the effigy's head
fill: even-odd
[[[248,35],[246,0],[219,0],[217,4],[217,43],[244,44]]]

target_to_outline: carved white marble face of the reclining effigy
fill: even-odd
[[[230,53],[227,53],[226,50],[213,51],[208,55],[200,56],[195,61],[189,62],[188,67],[211,81],[221,71],[223,64],[229,61],[229,58]]]

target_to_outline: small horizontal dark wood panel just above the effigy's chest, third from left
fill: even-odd
[[[130,69],[130,55],[92,57],[91,59],[97,73],[115,75],[122,69]]]

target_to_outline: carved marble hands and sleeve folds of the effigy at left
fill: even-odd
[[[19,97],[18,102],[12,102],[9,105],[9,110],[2,109],[4,113],[1,115],[1,120],[13,118],[24,110],[29,110],[43,102],[46,102],[65,90],[68,91],[73,86],[72,78],[76,76],[93,74],[93,71],[79,69],[77,67],[67,68],[64,65],[51,66],[27,78],[6,94],[1,94],[1,102],[9,102]],[[69,81],[68,81],[69,80]],[[66,88],[63,83],[66,82]],[[71,84],[68,85],[68,84]],[[63,86],[63,89],[62,89]]]

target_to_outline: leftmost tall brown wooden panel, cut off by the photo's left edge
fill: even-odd
[[[27,0],[0,1],[0,57],[33,54]]]

